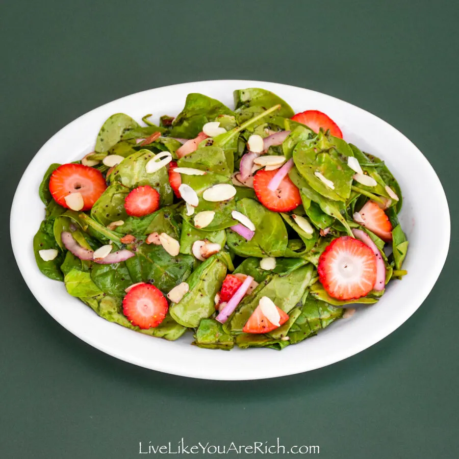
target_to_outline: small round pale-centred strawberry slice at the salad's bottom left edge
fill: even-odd
[[[166,298],[154,285],[137,284],[123,299],[123,313],[142,329],[157,327],[169,309]]]

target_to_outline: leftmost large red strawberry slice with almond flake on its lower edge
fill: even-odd
[[[100,171],[83,164],[63,164],[49,179],[49,191],[54,200],[67,209],[69,207],[65,196],[81,193],[84,202],[82,211],[85,211],[91,209],[106,188],[107,184]]]

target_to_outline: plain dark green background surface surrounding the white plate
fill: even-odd
[[[326,458],[459,456],[455,2],[42,0],[3,3],[0,17],[0,457],[149,457],[139,441],[182,436],[281,437],[318,444]],[[50,136],[133,92],[231,78],[302,86],[376,114],[423,151],[445,187],[452,243],[437,285],[395,333],[344,362],[247,382],[137,368],[62,328],[16,267],[11,200]]]

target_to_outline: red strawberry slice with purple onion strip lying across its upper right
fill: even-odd
[[[269,190],[268,184],[276,173],[277,170],[259,170],[253,177],[255,194],[263,206],[271,211],[291,211],[301,204],[298,188],[288,176],[285,176],[277,190]]]

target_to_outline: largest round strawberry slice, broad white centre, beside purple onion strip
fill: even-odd
[[[324,250],[317,267],[328,295],[340,300],[365,296],[376,283],[376,257],[368,245],[342,236]]]

